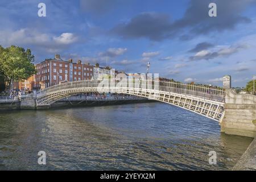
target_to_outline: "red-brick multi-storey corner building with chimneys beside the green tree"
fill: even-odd
[[[60,55],[36,64],[36,70],[38,71],[35,75],[36,89],[44,89],[65,81],[90,80],[93,76],[92,65],[82,64],[81,60],[77,63],[73,63],[72,59],[65,61]]]

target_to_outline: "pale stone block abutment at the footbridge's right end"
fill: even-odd
[[[226,90],[225,114],[220,121],[221,132],[256,137],[256,96]]]

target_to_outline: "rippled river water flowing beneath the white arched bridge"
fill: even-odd
[[[1,112],[0,169],[229,170],[251,140],[159,102]]]

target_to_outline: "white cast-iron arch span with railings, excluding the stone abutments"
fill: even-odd
[[[114,78],[65,82],[39,91],[36,94],[36,106],[50,106],[62,98],[88,92],[144,97],[181,107],[218,122],[224,116],[225,90],[157,80]]]

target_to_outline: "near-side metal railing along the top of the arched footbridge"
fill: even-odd
[[[187,96],[200,97],[207,100],[225,102],[225,90],[221,88],[209,88],[206,86],[197,86],[190,84],[181,84],[178,82],[166,82],[158,80],[86,80],[86,81],[73,81],[65,82],[59,85],[54,85],[44,90],[39,91],[38,96],[55,92],[62,89],[72,88],[97,88],[97,87],[119,87],[127,89],[146,89],[146,90],[159,90],[162,92],[172,92],[177,94],[184,94]],[[96,90],[97,92],[97,90]]]

